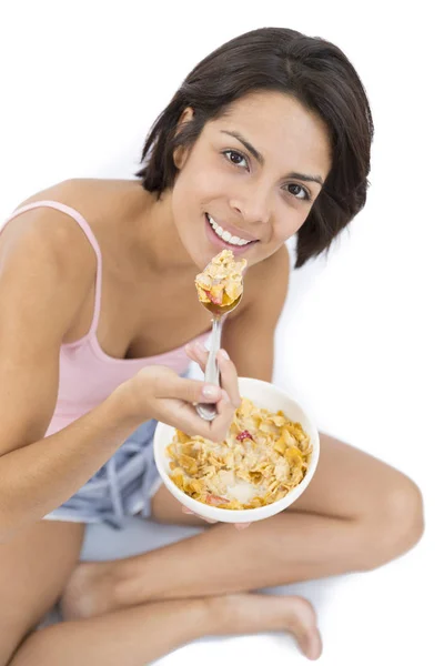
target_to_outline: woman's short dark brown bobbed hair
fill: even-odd
[[[330,133],[332,167],[296,234],[300,268],[330,248],[365,204],[369,186],[372,114],[355,69],[334,44],[287,28],[262,28],[226,42],[192,70],[159,115],[137,175],[160,196],[175,180],[174,150],[193,145],[209,120],[259,90],[296,98],[322,118]],[[194,115],[178,131],[186,107]]]

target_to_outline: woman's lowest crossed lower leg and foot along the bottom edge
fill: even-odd
[[[154,602],[32,634],[9,666],[144,666],[201,636],[290,630],[311,659],[321,654],[315,618],[297,597],[236,595]]]

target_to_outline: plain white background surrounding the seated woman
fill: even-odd
[[[375,122],[369,202],[327,262],[293,274],[275,381],[321,430],[414,478],[426,533],[377,572],[306,586],[324,634],[320,664],[329,666],[444,663],[444,59],[436,6],[65,0],[0,10],[1,219],[67,178],[131,178],[150,124],[189,70],[241,32],[291,27],[335,42],[356,67]],[[304,662],[290,638],[256,636],[198,643],[164,663],[236,665],[253,655],[255,666]]]

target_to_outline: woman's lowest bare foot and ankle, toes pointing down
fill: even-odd
[[[322,640],[313,606],[299,596],[235,594],[209,599],[218,634],[291,632],[309,659],[317,659]]]

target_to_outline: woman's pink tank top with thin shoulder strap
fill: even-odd
[[[132,377],[147,365],[167,365],[183,374],[190,361],[184,346],[145,359],[114,359],[101,349],[97,339],[102,290],[102,255],[99,243],[84,218],[74,209],[57,201],[37,201],[18,209],[8,218],[2,229],[17,215],[39,206],[48,206],[65,213],[81,226],[97,255],[94,313],[89,332],[60,349],[60,376],[57,405],[47,436],[65,427],[101,402],[103,402],[122,382]],[[0,229],[1,233],[1,229]],[[209,333],[195,340],[204,341]]]

